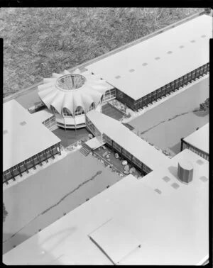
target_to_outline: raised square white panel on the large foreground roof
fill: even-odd
[[[122,223],[114,219],[94,230],[89,237],[106,253],[113,264],[119,264],[121,259],[141,245]]]

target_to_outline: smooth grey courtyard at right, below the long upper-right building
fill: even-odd
[[[180,152],[180,138],[209,122],[209,113],[194,110],[209,97],[209,77],[129,122],[136,132],[171,155]]]

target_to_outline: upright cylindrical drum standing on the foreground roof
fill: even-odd
[[[182,182],[192,182],[193,166],[187,160],[180,160],[178,163],[178,177]]]

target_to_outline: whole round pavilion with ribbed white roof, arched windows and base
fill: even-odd
[[[103,79],[89,71],[75,69],[70,73],[53,73],[44,78],[38,86],[38,95],[43,104],[55,114],[58,126],[63,128],[82,128],[85,114],[91,110],[101,111],[106,91],[113,89]]]

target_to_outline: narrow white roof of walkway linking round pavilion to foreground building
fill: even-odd
[[[164,166],[169,161],[169,158],[163,152],[142,140],[120,121],[116,121],[114,118],[98,111],[90,111],[87,113],[87,117],[101,133],[105,133],[152,170],[160,165]]]

